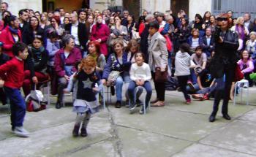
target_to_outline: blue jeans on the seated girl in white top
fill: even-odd
[[[135,103],[135,88],[138,85],[136,85],[135,81],[131,81],[129,83],[129,87],[128,87],[128,94],[129,94],[129,99],[131,100],[131,104]],[[146,99],[145,99],[145,104],[146,107],[148,107],[148,102],[151,99],[151,95],[152,95],[152,88],[151,88],[151,84],[149,83],[149,81],[146,81],[143,85],[143,87],[146,89]]]

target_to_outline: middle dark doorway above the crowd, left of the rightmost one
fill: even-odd
[[[140,16],[140,1],[139,0],[123,0],[124,9],[129,10],[129,15],[134,15],[135,20]]]

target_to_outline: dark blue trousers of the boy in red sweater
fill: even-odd
[[[21,96],[20,89],[4,87],[4,91],[10,99],[12,129],[15,126],[23,126],[26,115],[26,102]]]

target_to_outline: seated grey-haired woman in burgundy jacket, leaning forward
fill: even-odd
[[[63,37],[64,47],[55,55],[54,68],[58,78],[58,98],[56,108],[63,106],[63,90],[67,86],[70,76],[77,72],[75,65],[82,59],[78,48],[75,48],[75,37],[67,34]]]

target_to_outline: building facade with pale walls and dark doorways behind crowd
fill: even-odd
[[[82,7],[92,9],[128,9],[132,15],[138,17],[143,9],[153,13],[156,11],[167,12],[172,10],[174,14],[180,9],[184,9],[193,20],[196,13],[203,16],[204,12],[211,11],[214,15],[220,12],[233,10],[234,18],[241,16],[244,12],[250,12],[252,18],[256,16],[256,0],[4,0],[10,5],[10,10],[14,15],[18,15],[18,10],[31,8],[34,10],[49,11],[59,7],[64,7],[67,12]]]

